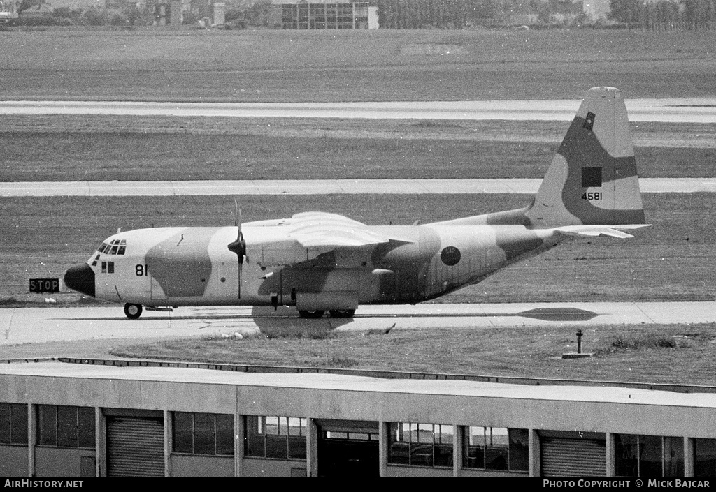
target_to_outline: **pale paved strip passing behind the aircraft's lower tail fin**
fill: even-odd
[[[265,179],[235,181],[0,182],[0,197],[124,197],[178,195],[416,195],[523,193],[542,179]],[[639,178],[643,193],[716,192],[716,178]]]

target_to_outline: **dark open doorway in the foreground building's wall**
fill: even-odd
[[[319,419],[319,476],[379,476],[378,423]]]

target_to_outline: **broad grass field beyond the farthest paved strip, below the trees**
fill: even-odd
[[[390,101],[711,96],[711,32],[13,31],[1,99]]]

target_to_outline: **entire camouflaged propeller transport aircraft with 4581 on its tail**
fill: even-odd
[[[291,305],[303,318],[352,317],[360,304],[415,304],[483,280],[568,237],[632,237],[644,226],[621,93],[586,93],[531,205],[425,225],[365,225],[305,212],[234,227],[117,232],[67,287],[142,306]]]

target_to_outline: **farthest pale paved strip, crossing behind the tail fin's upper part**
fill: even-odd
[[[0,102],[0,114],[571,121],[580,103],[581,99],[326,103],[4,101]],[[632,122],[716,121],[716,98],[712,97],[625,99],[625,104]]]

